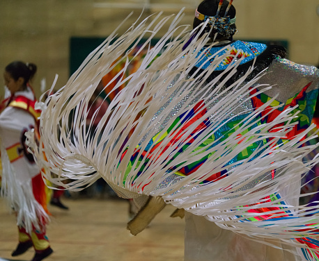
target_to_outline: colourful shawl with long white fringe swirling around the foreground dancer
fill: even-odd
[[[275,120],[260,124],[267,116],[261,112],[272,107],[273,99],[256,110],[242,106],[242,112],[251,113],[235,122],[237,116],[244,116],[237,111],[240,101],[244,99],[251,103],[253,96],[264,92],[253,93],[257,80],[242,86],[247,74],[226,90],[218,77],[212,78],[211,82],[204,82],[207,79],[203,74],[187,78],[192,73],[190,69],[198,69],[196,65],[201,53],[194,50],[207,42],[194,39],[182,49],[191,35],[185,35],[183,41],[180,37],[171,39],[176,33],[176,19],[156,47],[146,53],[141,67],[130,76],[127,86],[111,101],[96,129],[96,136],[87,138],[86,108],[101,75],[111,69],[119,55],[127,53],[130,44],[149,31],[146,21],[139,26],[134,24],[132,30],[121,35],[115,44],[111,43],[110,36],[88,56],[65,87],[45,101],[40,131],[41,144],[50,148],[45,151],[48,160],[41,159],[42,148],[34,151],[38,153],[39,165],[47,169],[47,178],[57,185],[62,185],[65,179],[72,180],[64,184],[65,187],[79,190],[102,176],[121,196],[161,196],[166,203],[205,216],[235,233],[256,240],[258,237],[277,237],[305,251],[311,248],[319,256],[317,221],[306,217],[311,212],[299,212],[297,204],[286,205],[286,201],[297,197],[291,193],[295,190],[289,194],[281,193],[289,185],[297,185],[296,178],[316,162],[301,161],[302,156],[313,149],[311,146],[299,147],[309,130],[292,140],[284,140],[291,130],[290,122],[295,119],[290,114],[291,108],[281,111]],[[160,27],[152,31],[154,35]],[[161,56],[150,65],[163,48]],[[264,69],[265,64],[270,64],[278,56],[275,49],[260,50],[258,66]],[[220,60],[227,60],[228,56],[231,54],[227,53]],[[227,69],[238,65],[234,62]],[[249,62],[254,59],[236,69],[244,71]],[[129,65],[127,59],[126,67]],[[214,70],[219,65],[220,62],[215,60],[205,73],[221,74],[231,81],[231,74],[222,75],[226,70]],[[238,72],[236,74],[239,78]],[[304,86],[300,88],[299,92]],[[299,96],[292,100],[298,99]],[[65,106],[67,101],[68,106]],[[178,110],[164,122],[177,105],[180,106]],[[279,107],[272,107],[270,112]],[[67,119],[73,111],[75,120],[71,129]],[[50,121],[47,121],[48,117]],[[164,124],[165,127],[158,131]],[[59,137],[52,131],[56,126],[61,129]],[[272,132],[275,128],[277,131]],[[130,130],[134,130],[132,135],[129,135]],[[98,142],[100,133],[102,137]],[[253,148],[256,143],[259,146]],[[239,154],[242,159],[228,165]],[[199,161],[203,164],[196,164]],[[183,170],[188,175],[180,174]],[[312,239],[313,245],[306,244]]]

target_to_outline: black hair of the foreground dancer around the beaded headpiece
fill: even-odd
[[[228,3],[229,2],[226,0],[223,2],[222,6],[221,6],[221,10],[219,12],[220,17],[224,17]],[[203,15],[215,16],[217,13],[218,5],[219,5],[219,0],[204,0],[199,4],[197,10]],[[231,17],[231,19],[233,19],[236,16],[236,9],[233,5],[228,10],[227,16]],[[203,23],[203,21],[201,21],[195,17],[194,22],[193,22],[193,28],[196,28],[201,23]],[[232,24],[231,28],[236,28],[235,24]],[[209,28],[208,28],[208,31],[209,31]],[[217,31],[215,31],[213,29],[211,34],[210,34],[210,37],[214,37],[215,33],[217,33]],[[217,35],[217,39],[219,37],[221,37],[221,35]]]

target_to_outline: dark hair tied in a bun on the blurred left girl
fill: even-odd
[[[21,61],[11,62],[6,66],[6,71],[12,78],[17,81],[20,77],[24,78],[24,85],[32,80],[34,74],[36,74],[36,65],[34,63],[28,63]]]

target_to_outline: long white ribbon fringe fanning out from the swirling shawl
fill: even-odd
[[[302,174],[319,161],[317,156],[310,162],[302,162],[302,158],[318,146],[317,144],[316,146],[300,147],[301,144],[305,144],[302,137],[309,133],[313,126],[297,135],[293,140],[281,146],[277,145],[277,142],[286,137],[286,134],[294,126],[292,121],[297,115],[292,115],[291,112],[297,107],[283,111],[279,117],[269,124],[253,127],[253,124],[259,121],[256,119],[256,115],[265,110],[276,99],[274,97],[258,110],[251,112],[249,116],[242,120],[242,124],[235,126],[237,129],[226,140],[220,143],[218,143],[219,140],[216,140],[213,143],[215,146],[208,144],[202,149],[196,150],[199,144],[213,135],[223,124],[226,124],[226,121],[233,119],[230,115],[238,107],[238,99],[248,95],[249,88],[256,88],[254,84],[263,75],[260,74],[249,83],[244,83],[253,69],[251,68],[240,80],[224,90],[224,83],[235,74],[235,69],[241,61],[240,59],[234,59],[224,73],[205,85],[205,79],[216,69],[219,62],[225,56],[231,56],[227,54],[217,58],[217,54],[212,56],[212,65],[205,70],[205,75],[193,75],[188,78],[190,69],[199,59],[196,58],[197,51],[194,50],[199,50],[205,46],[208,37],[203,37],[201,40],[195,37],[189,47],[182,51],[183,44],[189,39],[192,32],[187,33],[186,26],[178,26],[182,17],[181,12],[175,17],[169,31],[157,42],[156,46],[148,50],[137,72],[127,78],[121,78],[116,83],[114,90],[123,83],[127,83],[127,86],[111,101],[107,112],[98,125],[95,136],[89,139],[91,126],[89,130],[86,130],[86,117],[88,115],[88,101],[95,88],[102,76],[114,68],[115,65],[112,65],[112,63],[116,62],[123,54],[127,62],[120,73],[127,69],[130,65],[127,58],[128,53],[137,46],[142,37],[148,37],[143,47],[150,44],[150,40],[171,18],[160,19],[160,15],[155,15],[152,22],[145,19],[140,24],[134,24],[118,39],[115,39],[116,31],[112,33],[100,47],[90,53],[61,90],[49,96],[45,104],[39,105],[42,109],[40,144],[43,144],[43,146],[38,148],[35,142],[31,140],[29,142],[37,164],[40,169],[45,169],[45,173],[42,173],[43,176],[56,185],[75,191],[93,184],[95,180],[102,176],[122,196],[129,198],[136,197],[138,194],[162,196],[166,203],[171,203],[177,208],[185,208],[193,214],[203,215],[222,228],[233,230],[236,233],[244,233],[255,239],[258,239],[258,237],[277,237],[287,244],[292,244],[290,238],[306,236],[318,238],[318,235],[314,232],[311,233],[311,231],[296,231],[299,229],[298,226],[316,223],[318,218],[318,214],[306,217],[306,214],[311,213],[306,212],[306,210],[311,210],[306,205],[299,206],[299,208],[297,208],[297,205],[282,205],[286,207],[286,210],[290,210],[294,217],[298,217],[296,219],[270,219],[270,221],[255,222],[244,221],[244,219],[270,213],[273,213],[274,217],[280,217],[282,210],[258,214],[247,212],[247,210],[253,208],[251,206],[240,207],[256,203],[260,203],[256,208],[278,207],[281,206],[281,201],[288,202],[291,199],[291,194],[282,194],[279,201],[272,203],[261,201],[265,196],[282,192],[288,184],[299,183]],[[174,37],[173,35],[178,36]],[[114,40],[113,44],[111,44],[111,40]],[[134,42],[135,40],[137,42]],[[159,53],[162,53],[161,56],[156,58]],[[152,61],[153,63],[151,63]],[[220,81],[224,74],[228,74],[228,76],[224,81]],[[212,88],[213,86],[214,88]],[[263,91],[258,91],[257,94],[269,89],[270,87],[265,87]],[[176,90],[179,91],[175,95]],[[189,92],[192,92],[193,96],[189,96]],[[139,158],[150,138],[158,133],[158,126],[163,125],[164,127],[162,130],[160,129],[157,140],[166,133],[169,126],[179,115],[194,108],[196,102],[192,103],[192,101],[196,96],[205,102],[205,108],[208,109],[208,112],[183,131],[179,142],[164,151],[166,144],[174,136],[173,131],[178,133],[180,128],[176,127],[176,130],[171,130],[164,137],[160,146],[153,151],[152,160],[147,163],[146,168],[139,176],[137,176],[139,171],[137,160],[130,172],[125,174],[134,151],[140,150],[137,156]],[[147,103],[150,98],[152,101]],[[169,117],[171,110],[183,100],[187,101],[182,104],[175,117],[171,117],[164,125],[164,120]],[[166,104],[165,110],[154,120],[154,115],[164,104]],[[273,108],[273,110],[276,108]],[[197,115],[202,109],[196,111],[195,114]],[[137,119],[139,112],[143,110],[145,112]],[[70,117],[73,117],[72,126],[69,124]],[[190,140],[189,134],[192,133],[192,130],[208,117],[213,119],[211,125],[201,130],[199,137],[185,151],[169,162],[176,151]],[[108,118],[109,121],[107,121]],[[270,133],[269,130],[278,124],[283,125],[278,128],[276,133]],[[133,126],[135,127],[134,133],[125,144],[125,138]],[[100,133],[102,133],[102,138],[98,143]],[[238,144],[240,133],[245,134],[240,136],[242,142]],[[143,140],[143,137],[146,137],[146,139]],[[250,144],[270,137],[272,141],[260,146],[249,158],[225,167],[227,162]],[[313,135],[309,139],[314,137]],[[125,146],[120,149],[123,144]],[[127,153],[120,160],[125,149],[127,149]],[[164,151],[162,157],[158,158],[157,155],[162,151]],[[45,154],[47,160],[42,158],[42,153]],[[168,172],[169,169],[177,165],[180,165],[178,168],[180,169],[203,158],[208,153],[211,156],[199,171],[173,180],[169,185],[159,188],[159,185],[171,176],[171,173]],[[258,155],[258,153],[261,154]],[[143,158],[141,165],[145,159],[146,157]],[[178,171],[178,169],[175,171]],[[274,179],[270,178],[269,174],[273,169],[277,169]],[[228,176],[213,183],[201,184],[205,178],[222,170],[227,170]],[[69,182],[65,184],[67,180]],[[245,185],[251,183],[255,183],[255,185],[244,189]],[[295,195],[296,198],[298,196]],[[277,205],[274,205],[274,203]],[[311,228],[318,229],[318,225]],[[293,244],[304,247],[297,242]]]

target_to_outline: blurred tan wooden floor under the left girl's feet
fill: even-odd
[[[64,199],[70,210],[49,206],[52,222],[47,236],[54,253],[45,261],[182,261],[184,220],[171,218],[167,205],[137,236],[126,229],[128,203],[114,199]],[[30,249],[17,258],[15,216],[0,199],[0,261],[31,260]]]

